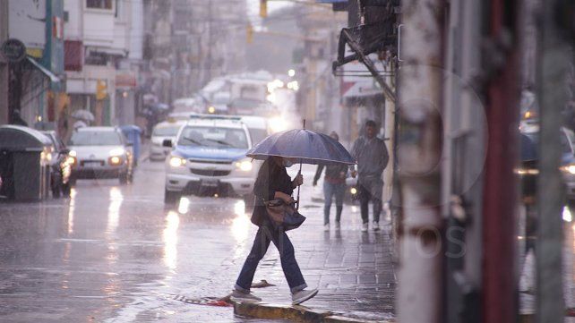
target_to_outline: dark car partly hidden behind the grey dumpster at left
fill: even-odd
[[[52,142],[53,149],[49,154],[50,163],[50,189],[52,196],[59,198],[70,196],[72,185],[70,177],[72,176],[73,158],[70,157],[70,150],[66,148],[64,142],[58,138],[56,132],[42,132]]]

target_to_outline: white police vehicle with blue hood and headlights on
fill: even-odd
[[[253,183],[262,162],[245,157],[252,148],[249,129],[240,117],[194,115],[180,129],[166,159],[164,201],[182,195],[253,197]]]

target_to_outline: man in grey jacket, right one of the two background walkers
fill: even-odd
[[[351,166],[352,177],[358,175],[358,194],[362,217],[362,232],[367,231],[369,222],[369,200],[373,201],[373,231],[380,229],[379,221],[382,213],[382,173],[390,159],[383,140],[377,138],[376,124],[373,120],[365,123],[365,135],[357,138],[351,149],[351,155],[356,158],[357,171]]]

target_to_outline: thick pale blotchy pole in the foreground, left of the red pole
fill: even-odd
[[[399,68],[399,322],[442,322],[442,0],[402,2]]]

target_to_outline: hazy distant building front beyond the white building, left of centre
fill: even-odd
[[[150,94],[171,104],[214,78],[245,72],[245,13],[245,1],[144,1]]]

